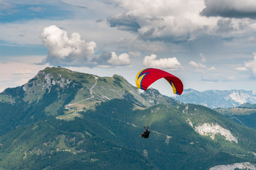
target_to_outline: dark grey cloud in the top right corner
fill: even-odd
[[[256,18],[255,0],[204,0],[205,8],[201,16],[221,16],[224,18]]]

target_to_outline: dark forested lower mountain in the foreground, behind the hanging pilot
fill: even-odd
[[[52,116],[0,137],[0,169],[210,169],[255,162],[256,131],[201,105],[139,110],[113,99],[72,121]],[[143,117],[160,116],[140,138]],[[154,119],[154,117],[153,117]],[[254,166],[256,168],[256,166]]]

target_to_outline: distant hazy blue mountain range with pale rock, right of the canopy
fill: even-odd
[[[209,108],[238,107],[249,102],[256,104],[256,91],[246,90],[206,90],[199,92],[193,89],[184,89],[181,95],[172,97],[183,103],[200,104]]]

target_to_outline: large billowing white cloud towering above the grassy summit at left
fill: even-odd
[[[42,63],[51,65],[85,66],[94,54],[96,43],[86,42],[77,32],[68,37],[67,31],[57,26],[45,27],[40,38],[45,47],[48,47],[48,55]]]

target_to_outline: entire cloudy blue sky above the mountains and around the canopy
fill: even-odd
[[[0,92],[45,67],[184,89],[256,90],[255,0],[0,0]],[[168,83],[152,87],[172,96]]]

